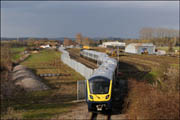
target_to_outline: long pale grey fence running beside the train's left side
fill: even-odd
[[[65,51],[64,48],[59,48],[59,51],[62,52],[61,61],[63,63],[67,64],[76,72],[79,72],[82,76],[86,78],[86,80],[90,78],[90,76],[93,74],[93,69],[90,69],[85,65],[71,59],[69,53]],[[86,97],[86,80],[77,81],[77,100],[85,99]]]

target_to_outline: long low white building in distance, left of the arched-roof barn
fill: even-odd
[[[125,47],[126,43],[123,42],[118,42],[118,41],[114,41],[114,42],[103,42],[103,44],[101,45],[101,47]]]

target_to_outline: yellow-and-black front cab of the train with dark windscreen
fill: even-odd
[[[112,80],[96,76],[86,81],[88,111],[103,112],[112,109]]]

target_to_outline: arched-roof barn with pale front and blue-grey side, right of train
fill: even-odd
[[[155,45],[152,43],[130,43],[125,47],[125,52],[134,54],[154,54]]]

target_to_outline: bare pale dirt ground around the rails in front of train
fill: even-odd
[[[53,119],[82,119],[82,120],[90,120],[92,118],[92,113],[88,112],[87,104],[86,103],[79,103],[77,106],[73,107],[70,112],[64,113],[59,115]],[[127,119],[127,115],[125,114],[116,114],[116,115],[105,115],[105,114],[97,114],[97,120],[122,120]]]

